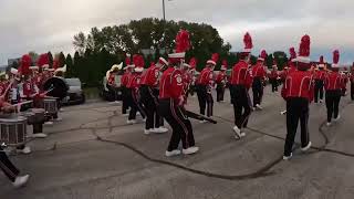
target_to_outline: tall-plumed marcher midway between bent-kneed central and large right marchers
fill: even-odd
[[[246,136],[241,132],[247,126],[251,114],[251,100],[248,90],[252,84],[252,74],[249,70],[250,53],[253,48],[252,38],[247,32],[243,38],[244,50],[240,54],[240,61],[232,67],[231,72],[231,98],[235,113],[235,138],[240,139]],[[243,113],[242,113],[243,112]]]

